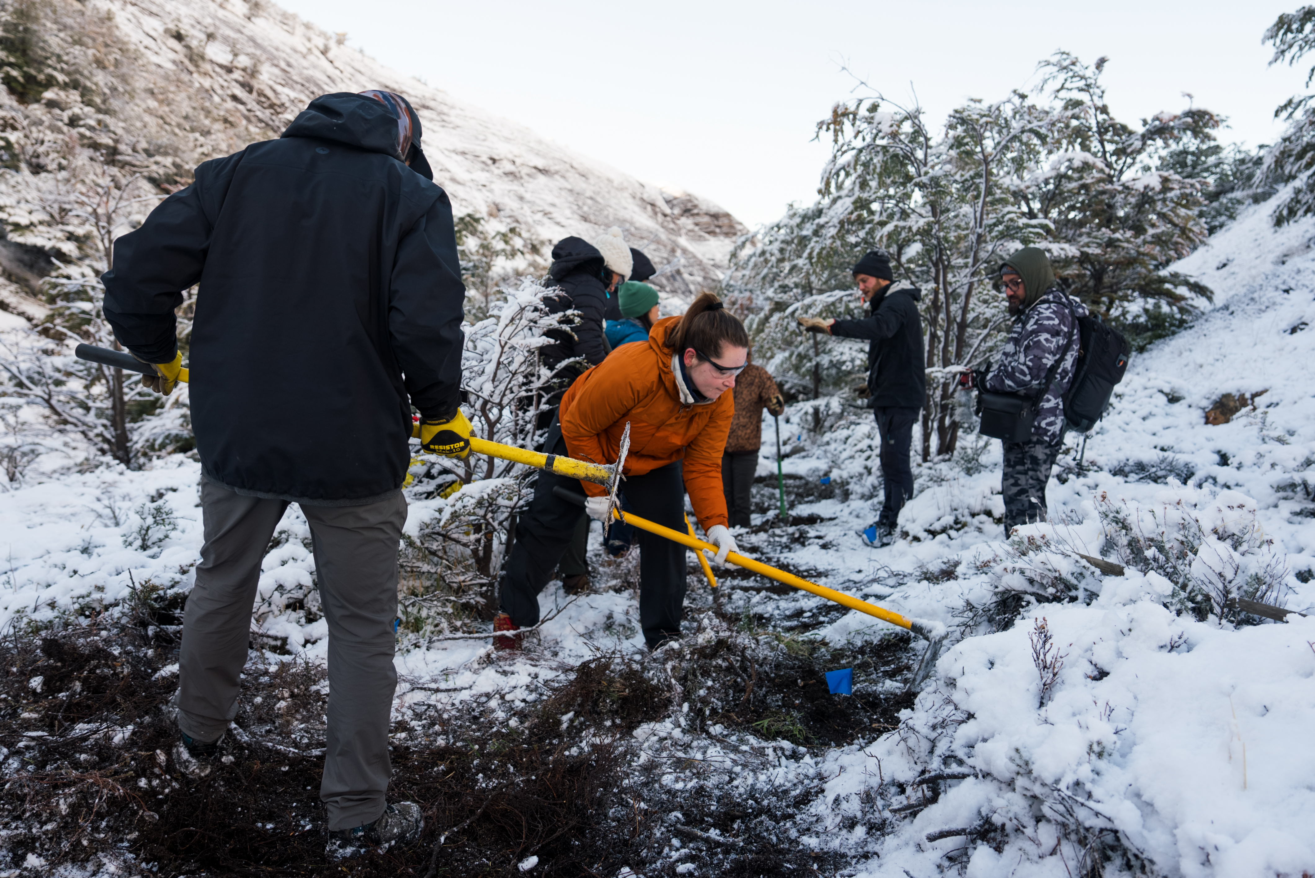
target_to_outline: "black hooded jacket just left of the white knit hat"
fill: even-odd
[[[583,358],[586,365],[598,365],[608,355],[602,339],[604,313],[608,309],[608,288],[602,284],[604,260],[598,248],[584,238],[563,238],[552,247],[552,267],[548,275],[562,290],[548,298],[550,312],[571,309],[580,312],[580,323],[568,329],[546,333],[555,339],[542,348],[544,364],[555,368],[572,358]]]

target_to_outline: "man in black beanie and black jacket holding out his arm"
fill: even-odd
[[[889,545],[899,519],[899,509],[913,496],[913,468],[909,451],[913,425],[918,421],[927,393],[926,356],[922,350],[922,292],[910,284],[896,284],[890,256],[869,250],[853,266],[853,283],[872,314],[861,321],[801,317],[810,333],[840,338],[865,338],[868,344],[868,406],[876,413],[881,434],[881,476],[885,502],[877,520],[863,531],[868,545]]]

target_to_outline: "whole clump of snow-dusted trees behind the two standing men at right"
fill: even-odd
[[[928,460],[952,453],[965,423],[959,367],[985,363],[1009,326],[990,293],[1014,250],[1045,248],[1061,285],[1115,322],[1178,325],[1208,301],[1165,269],[1205,239],[1205,192],[1218,191],[1211,216],[1236,213],[1255,158],[1218,146],[1222,120],[1208,110],[1119,121],[1105,63],[1056,53],[1039,66],[1040,100],[972,100],[935,130],[922,108],[880,92],[838,104],[818,124],[832,145],[818,201],[742,239],[732,259],[727,292],[760,360],[797,394],[859,384],[859,346],[801,343],[794,318],[856,315],[842,292],[849,266],[886,250],[897,279],[923,290]]]

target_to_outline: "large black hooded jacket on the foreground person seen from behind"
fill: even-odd
[[[396,494],[410,406],[455,414],[464,287],[447,195],[397,158],[376,100],[323,95],[277,141],[196,170],[114,243],[105,317],[141,359],[191,340],[196,448],[242,494],[348,506]],[[418,139],[418,138],[417,138]]]

